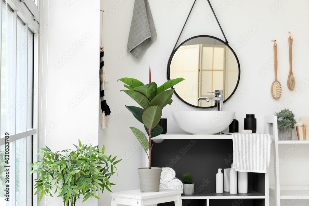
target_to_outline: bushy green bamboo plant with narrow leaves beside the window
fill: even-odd
[[[33,163],[32,173],[37,173],[34,185],[36,192],[40,194],[40,201],[46,195],[46,199],[52,195],[52,188],[55,186],[54,194],[58,191],[58,197],[63,199],[64,206],[75,206],[76,200],[83,198],[83,202],[88,198],[99,199],[96,191],[103,193],[104,188],[111,192],[109,178],[115,173],[116,164],[121,160],[116,157],[111,158],[104,154],[105,146],[99,151],[98,146],[81,144],[74,145],[76,150],[60,150],[53,153],[47,146],[40,148],[43,158]],[[117,171],[117,169],[116,169]]]

